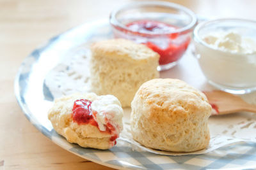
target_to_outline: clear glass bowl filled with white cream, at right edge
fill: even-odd
[[[211,85],[232,94],[256,90],[256,22],[219,19],[193,31],[196,57]]]

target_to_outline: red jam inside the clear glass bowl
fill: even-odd
[[[137,20],[134,22],[130,22],[126,25],[131,31],[137,32],[138,35],[140,35],[140,32],[154,32],[154,33],[164,33],[164,32],[170,32],[175,31],[176,29],[179,29],[179,27],[166,24],[164,22],[159,21],[153,21],[153,20]],[[182,39],[181,39],[182,38]],[[154,50],[155,52],[159,53],[160,59],[159,64],[165,65],[170,62],[175,62],[182,57],[183,53],[188,48],[188,45],[190,43],[190,37],[182,37],[182,35],[179,35],[178,33],[172,33],[168,34],[168,45],[166,47],[161,47],[160,45],[157,45],[153,41],[150,41],[150,38],[148,38],[147,43],[144,43],[149,48]]]

